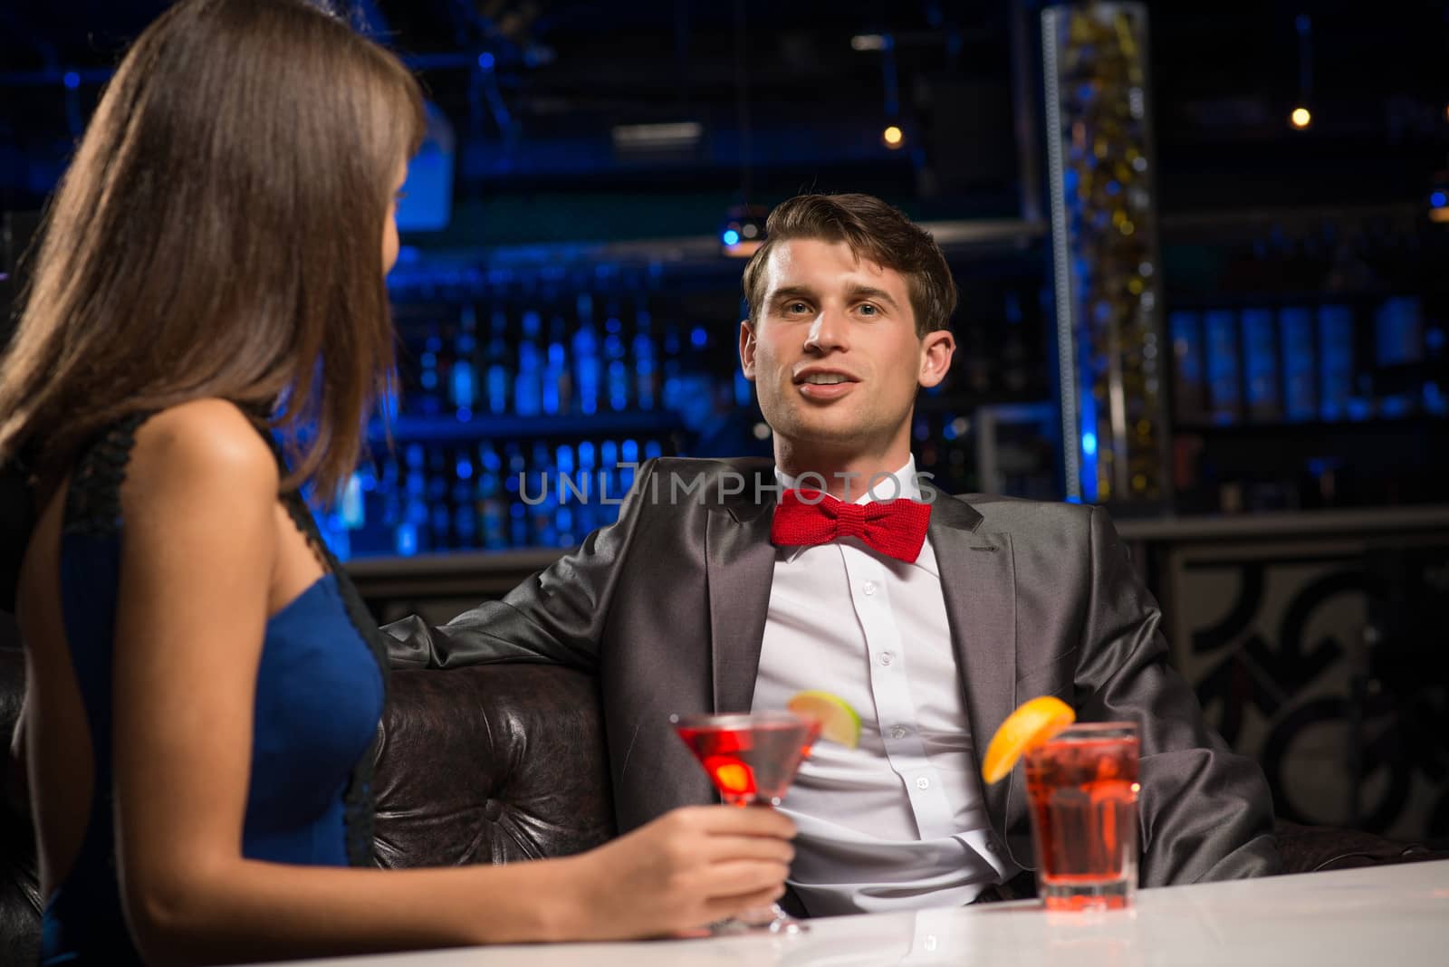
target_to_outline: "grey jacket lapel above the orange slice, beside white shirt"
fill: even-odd
[[[1016,569],[1011,536],[977,533],[969,504],[942,491],[930,514],[930,544],[940,570],[940,591],[956,650],[956,667],[971,724],[977,764],[1001,721],[1016,708]],[[1020,773],[1020,770],[1016,770]],[[995,783],[984,789],[987,812],[1000,832],[1009,805],[1020,795]]]

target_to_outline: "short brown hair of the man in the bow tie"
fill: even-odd
[[[862,194],[797,195],[775,206],[765,221],[765,243],[745,266],[745,298],[753,323],[764,310],[769,252],[791,239],[845,242],[855,258],[904,275],[916,336],[951,326],[956,282],[940,246],[898,208]]]

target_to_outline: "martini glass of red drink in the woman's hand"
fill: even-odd
[[[793,712],[671,715],[669,721],[720,798],[732,806],[778,806],[820,735],[819,721]],[[798,934],[806,929],[780,909],[780,903],[745,911],[710,928],[713,934]]]

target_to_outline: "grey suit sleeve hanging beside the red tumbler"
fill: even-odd
[[[1136,721],[1140,730],[1142,884],[1281,873],[1262,770],[1207,725],[1168,663],[1162,612],[1103,510],[1091,511],[1090,540],[1078,717]]]

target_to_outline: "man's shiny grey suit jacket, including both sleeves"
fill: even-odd
[[[669,715],[751,706],[775,563],[772,486],[769,460],[651,460],[616,524],[503,601],[442,627],[416,617],[388,625],[393,663],[591,670],[619,829],[710,802],[713,789]],[[1204,724],[1168,666],[1161,611],[1107,514],[932,495],[929,533],[978,754],[1011,709],[1037,695],[1061,696],[1081,721],[1136,721],[1142,884],[1277,873],[1262,772]],[[985,805],[995,841],[1033,869],[1023,769],[988,786]]]

